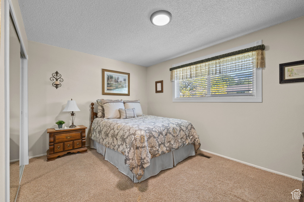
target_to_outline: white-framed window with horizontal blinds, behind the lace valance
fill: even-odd
[[[261,41],[257,42],[261,44]],[[257,42],[254,42],[254,44]],[[226,53],[235,49],[252,47],[252,44],[226,50]],[[212,55],[220,55],[221,53]],[[211,57],[213,57],[212,55]],[[172,82],[173,102],[261,102],[262,71],[261,68],[254,68],[254,57],[249,56],[237,57],[233,60],[224,59],[220,64],[208,61],[204,65],[196,64],[195,67],[191,63],[192,61],[184,62],[184,64],[191,64],[191,67],[186,66],[184,68],[192,69],[191,71],[180,69],[181,71],[174,73],[177,75],[174,75],[175,79]],[[208,55],[202,58],[211,57]],[[199,60],[202,59],[195,59],[195,61]],[[219,67],[221,68],[220,71],[218,70]],[[200,72],[193,73],[194,71]],[[192,74],[191,78],[187,78],[189,72]]]

